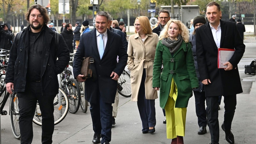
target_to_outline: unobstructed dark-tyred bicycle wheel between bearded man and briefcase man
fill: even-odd
[[[68,80],[66,94],[68,94],[68,111],[75,114],[80,106],[81,94],[79,85],[74,78]]]

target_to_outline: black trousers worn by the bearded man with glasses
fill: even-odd
[[[54,130],[53,99],[56,95],[42,95],[41,82],[27,82],[25,92],[18,92],[17,96],[20,109],[20,143],[32,143],[32,120],[38,101],[42,115],[42,144],[51,144]]]

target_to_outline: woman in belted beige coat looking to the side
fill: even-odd
[[[152,33],[148,17],[137,17],[134,27],[135,34],[129,37],[127,50],[128,70],[131,71],[131,100],[137,101],[142,133],[154,133],[157,91],[152,87],[152,78],[158,35]]]

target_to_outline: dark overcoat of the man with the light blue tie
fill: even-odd
[[[85,98],[87,101],[96,103],[99,96],[106,103],[114,103],[117,82],[110,75],[112,71],[119,76],[122,74],[127,63],[127,53],[124,49],[121,36],[107,29],[108,41],[102,59],[97,48],[96,29],[84,33],[81,36],[73,62],[74,77],[80,74],[83,57],[93,57],[96,72],[85,81]],[[117,63],[116,58],[119,57]]]

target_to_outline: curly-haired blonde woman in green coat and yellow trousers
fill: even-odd
[[[169,20],[159,40],[153,66],[153,88],[160,90],[167,139],[172,139],[172,144],[183,144],[188,100],[192,89],[198,87],[188,29],[180,20]]]

